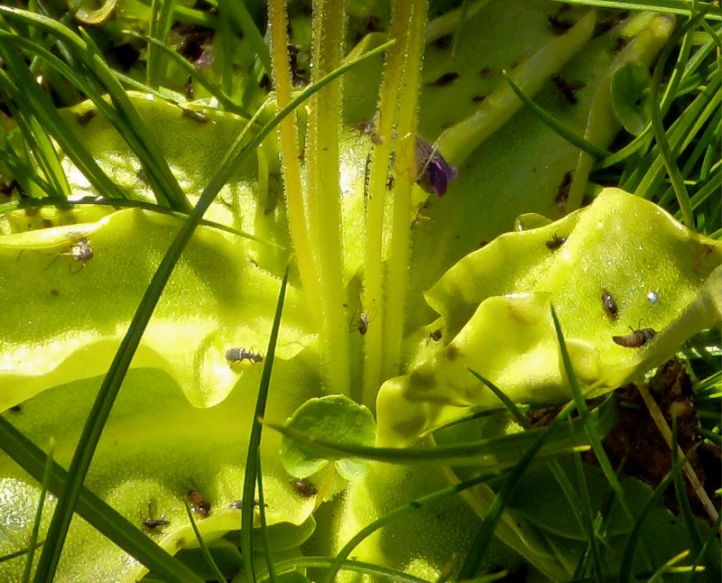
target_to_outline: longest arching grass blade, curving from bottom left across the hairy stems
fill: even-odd
[[[0,12],[2,12],[2,6],[0,6]],[[88,415],[88,421],[86,421],[80,435],[78,447],[76,448],[72,461],[70,462],[68,479],[60,491],[58,505],[52,516],[51,525],[48,530],[48,538],[51,541],[55,541],[55,543],[53,545],[46,545],[43,547],[38,564],[38,570],[35,575],[36,581],[41,582],[51,579],[58,567],[60,552],[68,535],[73,509],[78,501],[80,489],[86,475],[88,474],[90,461],[92,460],[97,448],[97,442],[100,439],[100,435],[106,424],[108,415],[113,408],[113,403],[116,401],[117,394],[120,391],[120,386],[123,383],[125,374],[127,373],[130,363],[133,360],[135,350],[140,345],[143,332],[148,325],[148,321],[153,315],[153,310],[155,310],[156,304],[161,298],[165,284],[170,279],[171,273],[175,264],[178,262],[180,254],[188,244],[193,231],[196,227],[198,227],[203,214],[213,202],[216,195],[218,195],[220,189],[227,182],[231,173],[237,167],[237,164],[241,162],[245,155],[253,152],[255,147],[263,142],[264,138],[275,129],[285,116],[290,115],[293,110],[300,106],[301,103],[303,103],[311,95],[319,91],[320,88],[324,87],[332,80],[338,79],[338,77],[348,69],[355,67],[357,64],[367,59],[375,57],[375,55],[382,51],[385,51],[390,44],[390,42],[387,42],[377,47],[374,51],[369,51],[358,59],[346,63],[344,66],[336,69],[333,73],[330,73],[323,79],[319,79],[318,83],[306,88],[300,95],[295,97],[288,106],[283,107],[283,109],[276,114],[273,120],[264,125],[264,128],[246,143],[245,138],[248,133],[248,129],[253,126],[257,116],[260,116],[263,113],[263,108],[259,108],[255,117],[249,120],[248,124],[245,126],[245,130],[238,136],[236,143],[234,143],[229,153],[227,153],[224,157],[223,162],[220,165],[220,169],[208,182],[208,186],[203,190],[198,204],[195,208],[193,208],[182,227],[180,227],[178,235],[175,236],[171,246],[163,256],[161,264],[158,266],[156,272],[153,273],[153,279],[143,294],[143,299],[141,300],[138,309],[135,311],[134,317],[125,333],[125,337],[121,341],[120,347],[117,349],[116,356],[113,358],[113,362],[108,369],[106,377],[103,379],[100,389],[98,390],[96,401],[93,403]]]

